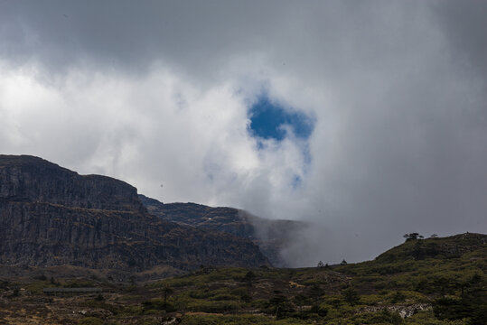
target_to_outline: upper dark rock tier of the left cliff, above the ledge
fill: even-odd
[[[32,156],[0,155],[0,200],[65,207],[143,211],[137,190],[106,176],[80,176]]]

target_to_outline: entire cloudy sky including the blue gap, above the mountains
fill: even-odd
[[[304,220],[290,265],[487,233],[487,2],[0,0],[0,153]]]

